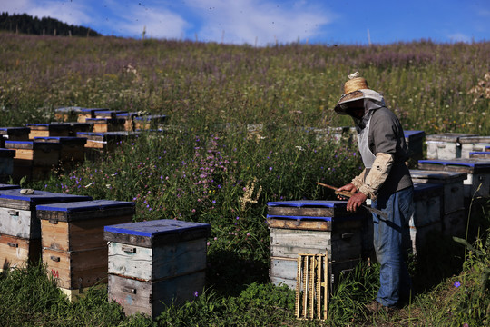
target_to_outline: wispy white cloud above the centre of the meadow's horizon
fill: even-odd
[[[203,41],[268,45],[290,43],[317,35],[331,21],[325,10],[305,1],[284,2],[258,0],[188,0],[203,20],[198,37]],[[224,37],[223,37],[224,35]]]

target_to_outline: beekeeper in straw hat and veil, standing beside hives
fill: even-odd
[[[381,94],[369,89],[365,78],[349,75],[344,94],[335,112],[348,114],[358,131],[358,148],[365,169],[338,191],[353,195],[347,210],[357,211],[367,199],[371,206],[387,213],[373,213],[374,248],[381,270],[377,299],[368,309],[391,311],[407,300],[411,291],[407,271],[408,221],[414,211],[413,183],[405,162],[408,159],[403,128],[397,116],[387,109]]]

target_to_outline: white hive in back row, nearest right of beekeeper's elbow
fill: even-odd
[[[460,140],[475,134],[445,133],[426,135],[427,159],[461,158]]]

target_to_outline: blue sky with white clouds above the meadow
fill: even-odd
[[[490,41],[489,0],[0,0],[103,35],[273,45]]]

